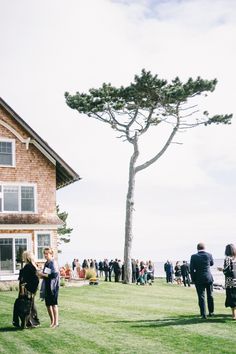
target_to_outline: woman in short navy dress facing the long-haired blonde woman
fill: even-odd
[[[40,297],[45,300],[47,311],[51,320],[50,327],[56,328],[58,324],[58,292],[59,292],[59,271],[53,259],[53,250],[48,247],[44,249],[43,272],[39,276],[43,278]]]

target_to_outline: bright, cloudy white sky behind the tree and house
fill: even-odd
[[[130,144],[70,109],[64,92],[129,85],[142,68],[171,80],[218,79],[199,99],[229,126],[179,134],[136,176],[132,256],[189,259],[198,242],[215,258],[236,243],[236,2],[234,0],[0,0],[0,95],[81,176],[57,192],[73,228],[60,263],[121,258]],[[165,131],[144,137],[140,163]]]

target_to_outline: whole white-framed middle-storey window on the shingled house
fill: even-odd
[[[0,212],[35,213],[35,185],[0,184]]]

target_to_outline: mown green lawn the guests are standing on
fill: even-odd
[[[60,327],[11,326],[16,292],[0,292],[0,353],[236,353],[236,322],[215,293],[215,317],[199,319],[195,288],[156,280],[153,286],[101,282],[60,289]]]

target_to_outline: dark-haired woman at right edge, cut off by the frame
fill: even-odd
[[[236,320],[236,248],[233,244],[225,247],[224,268],[218,269],[225,275],[225,307],[231,307],[232,319]]]

